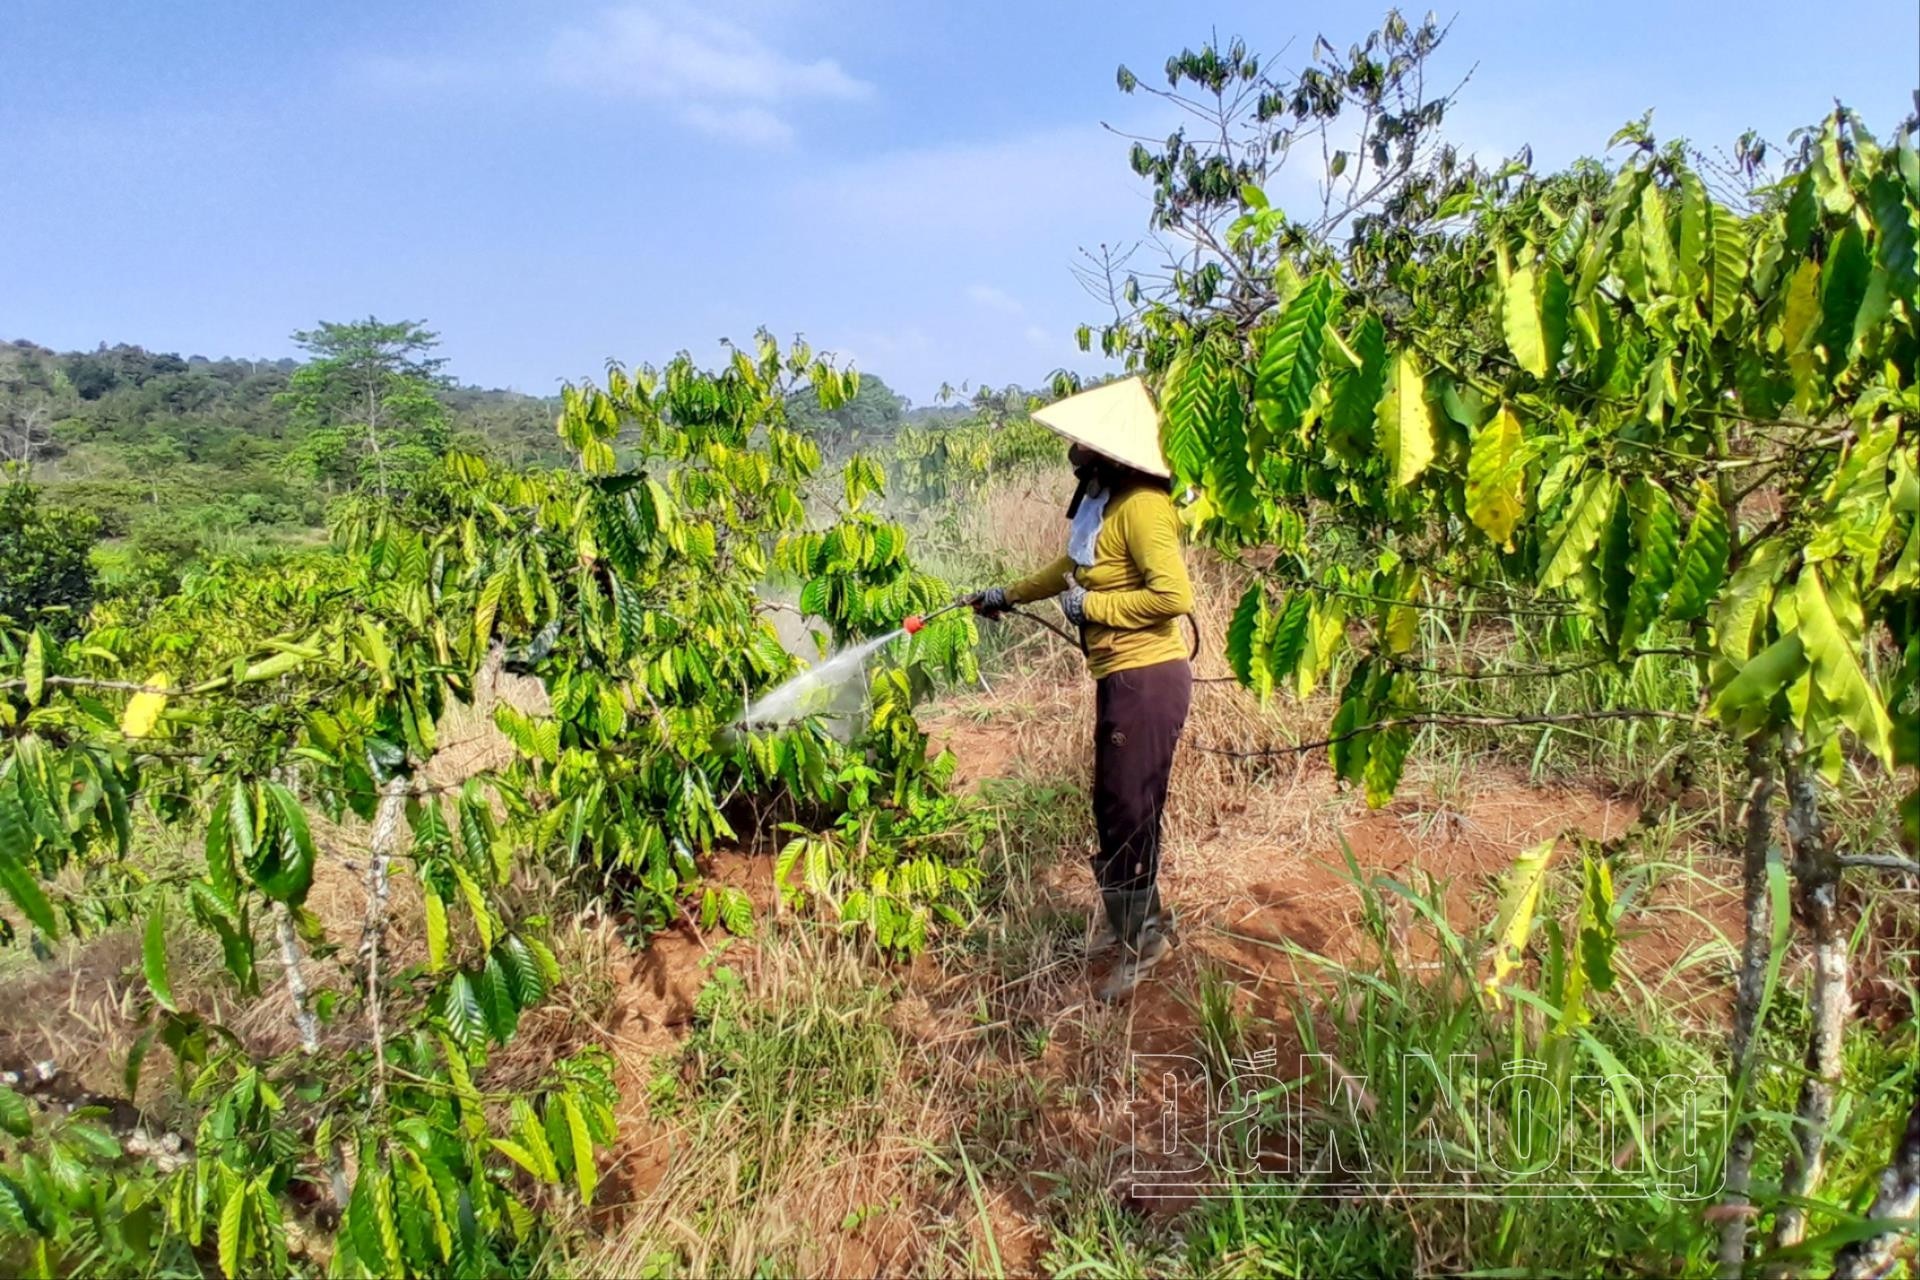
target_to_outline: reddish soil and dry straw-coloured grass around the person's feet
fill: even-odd
[[[1102,1006],[1091,998],[1100,969],[1083,954],[1094,890],[1075,764],[1079,710],[1071,697],[1035,702],[1000,693],[929,718],[935,741],[956,754],[958,785],[1004,806],[1010,839],[1031,835],[1031,806],[1041,804],[1044,831],[1066,833],[1064,844],[1035,850],[1031,875],[1008,885],[966,936],[939,940],[912,965],[854,961],[860,983],[891,990],[885,1021],[902,1050],[900,1080],[872,1132],[795,1134],[797,1144],[824,1144],[820,1167],[753,1201],[753,1226],[739,1230],[804,1240],[795,1263],[831,1274],[966,1272],[983,1267],[991,1242],[1008,1274],[1031,1274],[1046,1259],[1062,1190],[1073,1186],[1104,1188],[1114,1203],[1154,1219],[1177,1215],[1190,1201],[1129,1201],[1135,1126],[1164,1103],[1140,1090],[1135,1055],[1202,1055],[1202,990],[1225,998],[1288,1057],[1298,1048],[1294,1004],[1306,996],[1311,1009],[1327,981],[1290,948],[1373,960],[1356,871],[1440,894],[1452,925],[1473,935],[1521,850],[1555,835],[1619,841],[1640,821],[1632,802],[1605,791],[1534,787],[1509,768],[1415,779],[1382,810],[1338,789],[1323,760],[1233,789],[1188,773],[1164,864],[1181,946],[1131,1002]],[[609,1230],[637,1219],[680,1221],[695,1194],[685,1173],[691,1134],[649,1115],[647,1080],[684,1042],[712,950],[726,948],[724,963],[751,990],[785,1000],[795,948],[810,946],[795,942],[804,931],[778,923],[770,858],[720,854],[707,871],[747,890],[772,927],[762,940],[741,942],[703,936],[684,921],[616,963],[609,1032],[624,1067],[624,1113]],[[1620,921],[1624,963],[1667,973],[1674,958],[1713,946],[1715,929],[1738,917],[1724,885],[1724,875],[1622,871],[1622,898],[1632,896]],[[1400,902],[1392,944],[1404,946],[1407,963],[1430,960],[1411,906],[1384,900]],[[1699,1000],[1701,1017],[1716,1017],[1713,984],[1697,981],[1715,973],[1701,965],[1695,986],[1676,983],[1670,1007]],[[962,1151],[977,1169],[977,1199],[956,1182]],[[947,1174],[931,1173],[931,1155]]]

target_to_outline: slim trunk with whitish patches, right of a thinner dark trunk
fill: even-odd
[[[1847,933],[1839,923],[1839,858],[1834,835],[1820,818],[1820,783],[1801,750],[1799,733],[1782,739],[1788,781],[1788,842],[1793,848],[1793,881],[1799,913],[1812,933],[1812,1025],[1807,1029],[1807,1075],[1795,1107],[1795,1146],[1788,1151],[1782,1205],[1774,1219],[1774,1247],[1807,1238],[1807,1211],[1793,1199],[1820,1190],[1826,1169],[1826,1126],[1834,1115],[1834,1090],[1841,1077],[1847,1013]]]

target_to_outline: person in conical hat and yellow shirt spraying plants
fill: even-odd
[[[998,618],[1016,604],[1060,597],[1060,610],[1079,628],[1094,679],[1092,871],[1104,908],[1104,929],[1089,950],[1119,948],[1098,992],[1119,1000],[1173,948],[1173,919],[1158,889],[1160,827],[1192,702],[1181,628],[1192,612],[1192,583],[1146,384],[1112,382],[1033,416],[1071,441],[1079,486],[1068,507],[1066,555],[968,603]]]

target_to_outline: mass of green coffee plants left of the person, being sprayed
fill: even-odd
[[[854,386],[766,336],[718,372],[609,367],[564,391],[572,468],[449,453],[346,501],[326,551],[104,601],[71,639],[0,635],[4,938],[144,938],[125,1102],[60,1113],[31,1071],[0,1086],[8,1270],[526,1268],[616,1136],[603,1050],[534,1077],[507,1059],[566,981],[534,869],[586,877],[637,931],[699,904],[751,933],[697,858],[772,806],[833,850],[808,885],[854,887],[847,929],[908,952],[962,919],[977,835],[910,704],[972,672],[964,614],[891,647],[847,741],[735,727],[799,670],[756,593],[776,564],[835,639],[950,597],[868,509],[876,464],[808,522],[820,455],[785,405]],[[503,668],[547,706],[497,704],[511,760],[434,781],[445,712]],[[169,831],[192,858],[157,852]],[[359,919],[323,919],[317,883],[351,879]],[[202,954],[223,977],[179,983]],[[246,1034],[255,1007],[292,1038]],[[165,1138],[129,1105],[161,1057],[184,1119]]]

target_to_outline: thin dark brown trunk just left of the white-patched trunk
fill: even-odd
[[[1734,1032],[1728,1054],[1726,1188],[1720,1205],[1720,1274],[1740,1276],[1747,1265],[1749,1190],[1753,1186],[1753,1123],[1743,1115],[1753,1038],[1766,990],[1766,961],[1772,956],[1772,912],[1766,892],[1766,850],[1774,835],[1774,756],[1768,737],[1747,743],[1745,841],[1741,844],[1741,887],[1747,933],[1740,946],[1740,975],[1734,988]]]

